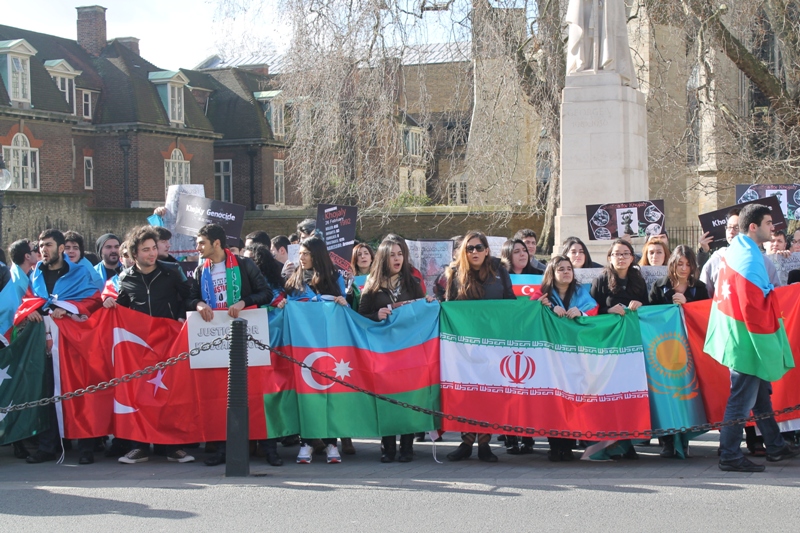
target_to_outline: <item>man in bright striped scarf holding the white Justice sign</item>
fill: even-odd
[[[197,309],[206,322],[214,311],[227,310],[232,318],[246,307],[258,307],[272,301],[272,291],[252,260],[237,257],[228,250],[222,226],[206,224],[197,232],[200,261],[194,271],[196,283],[189,297],[189,309]],[[225,462],[225,443],[205,461],[208,466]]]

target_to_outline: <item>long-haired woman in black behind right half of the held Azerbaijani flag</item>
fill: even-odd
[[[403,302],[424,298],[419,280],[411,274],[408,264],[408,245],[405,239],[389,234],[383,239],[372,269],[361,293],[358,312],[379,322],[392,314],[392,309]],[[397,435],[381,437],[381,462],[391,463],[397,454]],[[407,463],[413,459],[414,434],[400,435],[400,457]]]

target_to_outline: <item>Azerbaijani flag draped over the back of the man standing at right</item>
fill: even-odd
[[[756,243],[745,235],[731,242],[719,279],[703,350],[737,372],[777,381],[794,358],[774,287]]]

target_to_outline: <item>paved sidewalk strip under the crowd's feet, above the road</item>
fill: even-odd
[[[146,463],[126,465],[114,459],[95,454],[92,465],[79,466],[78,452],[67,452],[64,463],[55,462],[30,465],[15,459],[12,448],[0,448],[0,484],[47,484],[64,486],[173,486],[188,483],[203,484],[265,484],[287,482],[313,483],[438,483],[438,482],[488,482],[503,486],[546,486],[560,483],[576,485],[607,485],[618,482],[644,481],[656,485],[697,485],[706,482],[736,480],[766,484],[784,484],[800,480],[800,458],[780,463],[766,463],[764,458],[754,461],[767,465],[766,472],[742,474],[722,472],[717,467],[718,433],[702,435],[692,442],[692,457],[685,460],[662,459],[660,447],[637,447],[639,460],[591,462],[576,460],[552,463],[547,460],[547,441],[537,439],[536,453],[511,456],[505,453],[502,443],[492,440],[499,462],[487,464],[472,458],[453,463],[446,455],[459,442],[458,434],[448,433],[445,442],[436,444],[415,443],[414,461],[411,463],[383,464],[380,462],[378,439],[354,440],[357,453],[343,455],[342,463],[329,465],[324,455],[315,455],[309,465],[295,464],[298,446],[278,446],[284,466],[272,467],[262,458],[251,458],[248,478],[226,478],[225,466],[207,467],[202,448],[187,450],[197,459],[194,463],[169,463],[165,457],[151,456]]]

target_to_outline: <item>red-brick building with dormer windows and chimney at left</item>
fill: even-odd
[[[295,202],[254,97],[264,76],[160,69],[138,39],[107,39],[105,11],[78,7],[76,40],[0,25],[0,146],[15,201],[149,208],[169,185],[194,183],[249,209]]]

